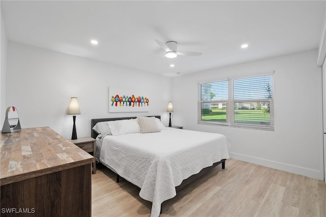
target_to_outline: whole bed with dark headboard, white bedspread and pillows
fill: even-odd
[[[152,202],[151,216],[176,188],[209,167],[224,169],[229,158],[224,135],[167,128],[160,116],[92,119],[91,132],[96,160],[141,189],[140,197]]]

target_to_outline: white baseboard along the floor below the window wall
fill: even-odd
[[[304,167],[298,167],[298,166],[294,166],[294,165],[279,163],[279,162],[265,160],[265,159],[261,159],[261,158],[255,158],[252,156],[247,156],[244,154],[239,154],[239,153],[234,153],[234,152],[230,152],[230,158],[240,160],[240,161],[246,161],[249,163],[258,164],[261,166],[270,167],[270,168],[274,168],[274,169],[278,169],[278,170],[282,170],[282,171],[286,171],[286,172],[290,172],[290,173],[304,175],[304,176],[308,176],[311,178],[324,180],[323,171],[312,170],[312,169],[308,169],[308,168],[304,168]],[[326,181],[325,181],[325,184],[326,184]]]

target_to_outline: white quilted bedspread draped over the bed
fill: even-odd
[[[161,203],[176,195],[183,179],[228,159],[228,146],[221,134],[169,128],[106,136],[99,159],[140,187],[140,197],[152,202],[151,216],[158,216]]]

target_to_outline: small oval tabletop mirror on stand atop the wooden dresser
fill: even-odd
[[[2,128],[2,133],[11,133],[21,130],[18,111],[16,107],[10,106],[6,111],[6,119]]]

